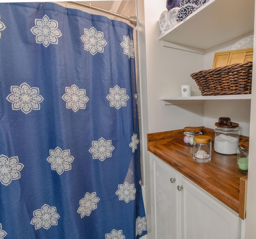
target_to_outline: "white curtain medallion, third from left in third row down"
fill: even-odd
[[[114,149],[115,147],[112,145],[111,140],[105,140],[101,137],[98,141],[92,141],[92,147],[89,149],[89,152],[92,153],[93,159],[104,161],[106,157],[112,156]]]

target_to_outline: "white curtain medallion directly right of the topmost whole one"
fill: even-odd
[[[103,53],[104,46],[107,44],[103,37],[104,33],[97,31],[94,27],[90,29],[84,28],[84,35],[81,36],[81,40],[84,42],[84,50],[90,51],[92,55],[97,52]]]

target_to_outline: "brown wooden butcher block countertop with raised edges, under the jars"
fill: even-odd
[[[207,163],[193,160],[193,147],[183,142],[183,129],[148,133],[148,151],[196,183],[244,219],[246,214],[247,175],[236,168],[236,154],[216,153],[214,130],[203,128],[212,137],[212,159]],[[248,139],[240,135],[240,139]]]

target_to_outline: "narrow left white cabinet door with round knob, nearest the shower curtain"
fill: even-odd
[[[179,239],[179,173],[169,165],[152,156],[154,239]],[[171,182],[172,179],[172,182]]]

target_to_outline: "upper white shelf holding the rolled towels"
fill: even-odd
[[[210,0],[159,40],[171,48],[204,51],[254,31],[254,0]],[[185,50],[185,49],[183,49]]]

